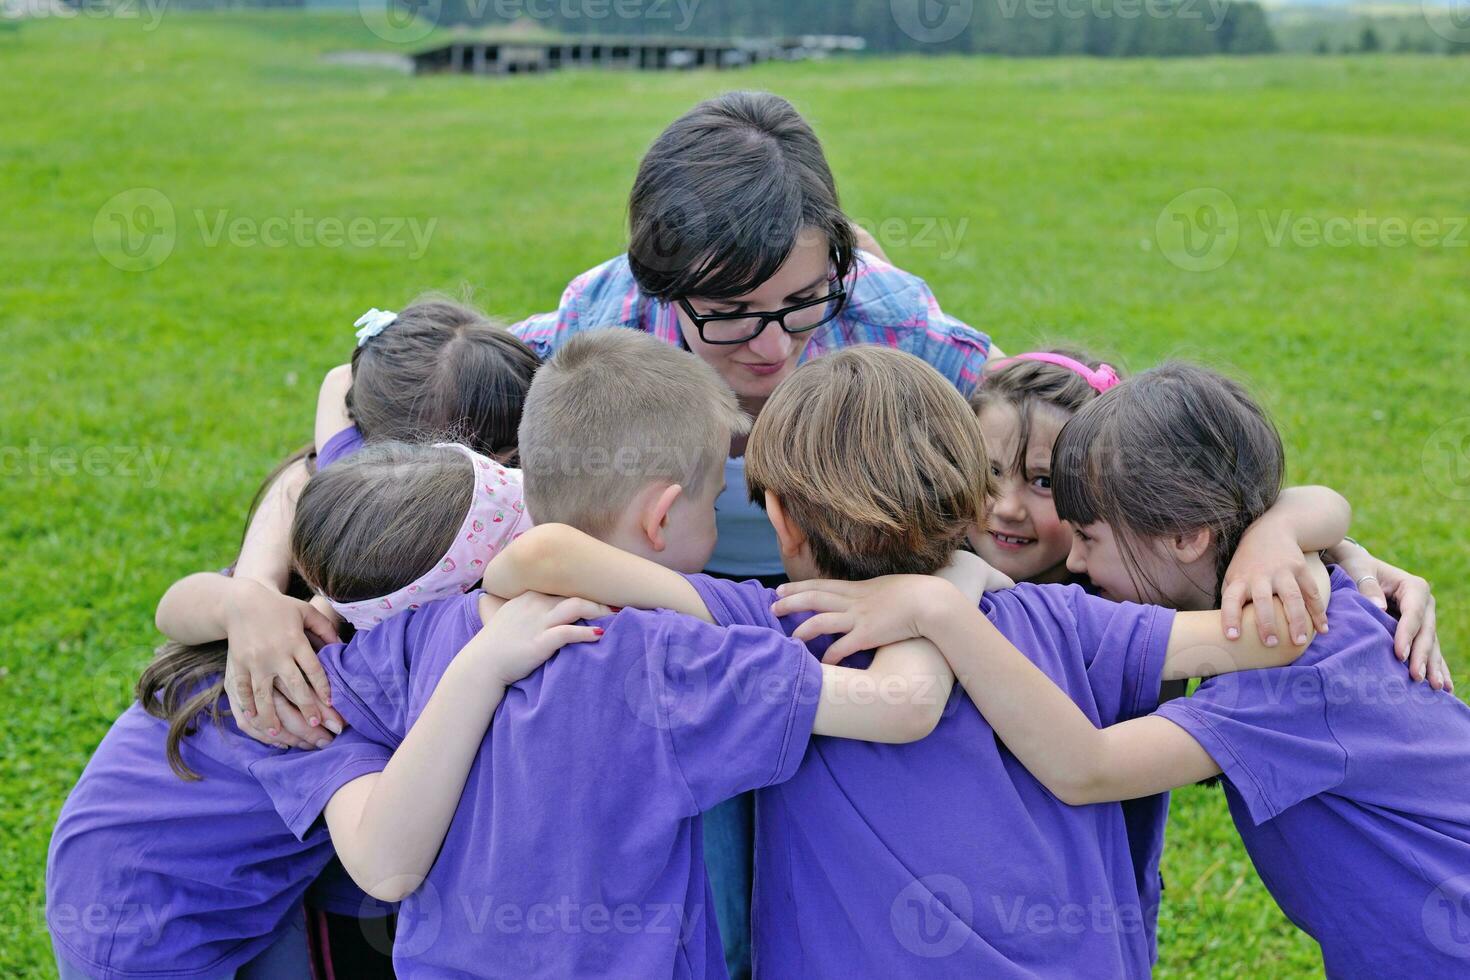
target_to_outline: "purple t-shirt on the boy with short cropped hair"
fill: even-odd
[[[401,613],[322,651],[348,721],[401,741],[481,629],[479,594]],[[723,977],[700,813],[788,779],[820,666],[763,629],[669,611],[598,620],[506,692],[425,884],[400,909],[400,976]],[[309,833],[344,779],[335,746],[266,783]]]

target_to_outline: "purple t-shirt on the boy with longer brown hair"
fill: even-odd
[[[759,582],[691,582],[719,623],[801,621],[776,620]],[[1157,707],[1170,610],[1033,585],[980,608],[1094,723]],[[757,974],[1150,973],[1122,807],[1060,802],[960,686],[920,742],[813,738],[797,774],[757,795],[756,840]]]

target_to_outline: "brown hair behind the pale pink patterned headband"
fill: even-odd
[[[370,444],[301,491],[291,560],[337,602],[397,592],[450,550],[473,492],[473,467],[454,447]]]

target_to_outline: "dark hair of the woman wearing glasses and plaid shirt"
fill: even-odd
[[[638,166],[628,222],[628,264],[663,301],[750,292],[806,228],[826,237],[839,278],[857,248],[820,141],[769,93],[726,93],[675,119]]]

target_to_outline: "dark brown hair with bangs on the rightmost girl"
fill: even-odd
[[[1245,388],[1179,361],[1079,410],[1051,455],[1057,516],[1108,525],[1141,595],[1160,592],[1138,561],[1142,544],[1205,527],[1219,599],[1241,535],[1276,502],[1285,472],[1280,433]]]

